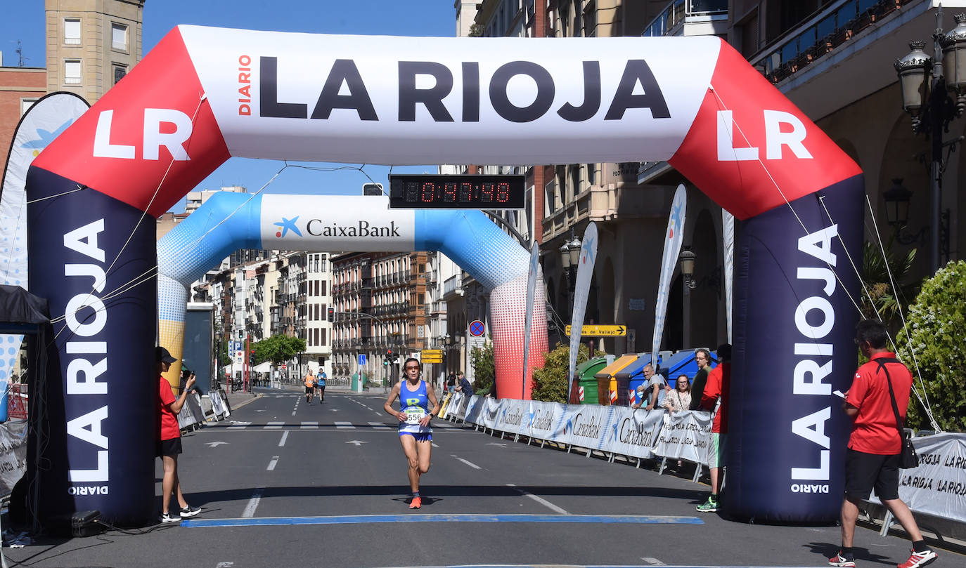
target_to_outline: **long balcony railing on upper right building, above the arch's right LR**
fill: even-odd
[[[884,16],[916,0],[839,0],[774,41],[752,65],[772,83],[808,66]]]

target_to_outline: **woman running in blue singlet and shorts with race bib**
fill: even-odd
[[[411,509],[422,506],[419,497],[419,477],[429,471],[430,452],[433,449],[433,428],[430,420],[440,412],[436,392],[428,388],[420,378],[422,366],[419,360],[409,358],[403,364],[404,381],[392,386],[385,398],[383,409],[386,414],[399,419],[399,442],[403,453],[410,462],[410,489],[412,490]],[[392,403],[399,398],[399,410],[393,410]],[[430,403],[433,408],[430,410]]]

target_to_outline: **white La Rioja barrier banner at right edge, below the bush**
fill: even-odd
[[[899,471],[899,499],[920,513],[966,522],[966,434],[913,438],[919,467]],[[870,499],[879,502],[873,496]]]

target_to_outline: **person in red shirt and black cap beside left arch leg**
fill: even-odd
[[[178,426],[178,413],[185,406],[185,399],[188,391],[194,386],[194,373],[188,377],[185,389],[181,395],[175,398],[171,392],[171,384],[168,383],[161,373],[167,372],[171,364],[178,361],[164,347],[155,348],[155,363],[157,364],[157,380],[160,393],[160,432],[157,439],[157,455],[161,458],[164,465],[164,477],[161,479],[161,523],[180,523],[182,519],[193,517],[201,512],[200,507],[192,507],[187,504],[185,496],[182,495],[181,481],[178,479],[178,454],[182,452],[181,428]],[[168,505],[171,504],[171,494],[174,493],[181,505],[181,513],[178,516],[168,512]]]

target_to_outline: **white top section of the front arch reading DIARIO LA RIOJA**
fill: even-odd
[[[721,51],[714,37],[488,38],[482,53],[463,38],[178,32],[231,155],[396,165],[667,160]]]

